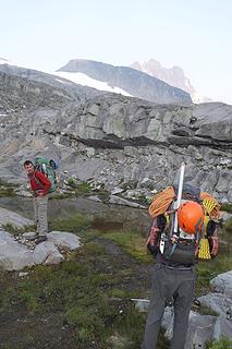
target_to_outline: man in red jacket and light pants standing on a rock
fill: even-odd
[[[48,191],[51,186],[49,179],[35,167],[30,160],[24,163],[24,169],[27,172],[27,178],[33,192],[33,202],[35,210],[36,232],[38,234],[36,243],[47,240],[48,233]]]

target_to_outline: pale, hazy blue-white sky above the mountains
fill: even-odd
[[[71,59],[181,67],[232,104],[231,0],[0,0],[0,58],[44,71]]]

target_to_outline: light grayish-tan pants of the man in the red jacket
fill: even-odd
[[[48,233],[48,195],[34,197],[36,232],[39,236]]]

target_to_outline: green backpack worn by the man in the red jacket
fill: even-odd
[[[45,157],[36,157],[34,160],[34,166],[36,171],[42,172],[48,177],[49,181],[51,182],[51,188],[48,192],[53,193],[57,190],[56,161],[52,159],[49,160]]]

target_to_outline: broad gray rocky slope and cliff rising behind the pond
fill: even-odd
[[[231,106],[78,97],[62,84],[0,73],[0,178],[22,182],[23,161],[41,154],[59,158],[68,176],[130,197],[168,185],[184,160],[187,181],[232,202]]]

